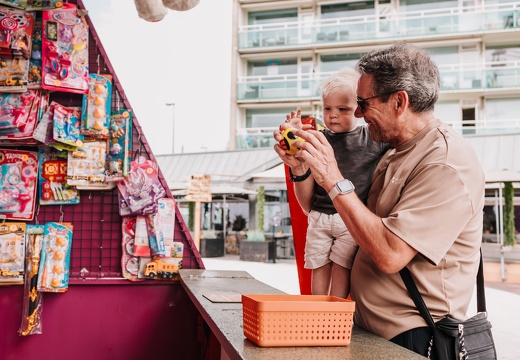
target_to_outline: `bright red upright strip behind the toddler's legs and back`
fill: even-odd
[[[289,181],[289,167],[285,167],[285,182],[287,184],[287,199],[291,213],[291,224],[294,239],[294,255],[300,282],[300,294],[311,295],[311,270],[303,267],[305,260],[305,241],[307,236],[307,215],[303,212],[294,194],[294,183]]]

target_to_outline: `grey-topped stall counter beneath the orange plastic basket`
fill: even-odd
[[[242,303],[218,303],[204,295],[283,294],[245,271],[180,270],[181,283],[229,359],[424,359],[401,346],[354,327],[349,346],[260,347],[244,336]],[[226,355],[222,354],[226,359]]]

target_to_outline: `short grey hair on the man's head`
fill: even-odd
[[[404,90],[410,109],[421,113],[434,109],[439,98],[440,75],[428,52],[412,44],[399,43],[386,49],[372,50],[357,63],[362,75],[373,76],[374,94],[386,102],[396,91]]]

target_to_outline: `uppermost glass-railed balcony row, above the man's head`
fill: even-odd
[[[315,47],[404,38],[453,37],[520,29],[520,2],[484,4],[411,11],[393,15],[370,15],[243,26],[239,51]]]

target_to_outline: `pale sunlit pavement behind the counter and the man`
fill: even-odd
[[[208,270],[243,270],[257,280],[287,294],[300,293],[294,259],[277,259],[276,263],[241,261],[238,255],[203,258]],[[484,262],[488,318],[499,360],[516,360],[520,348],[520,264]],[[473,296],[468,315],[476,313]]]

